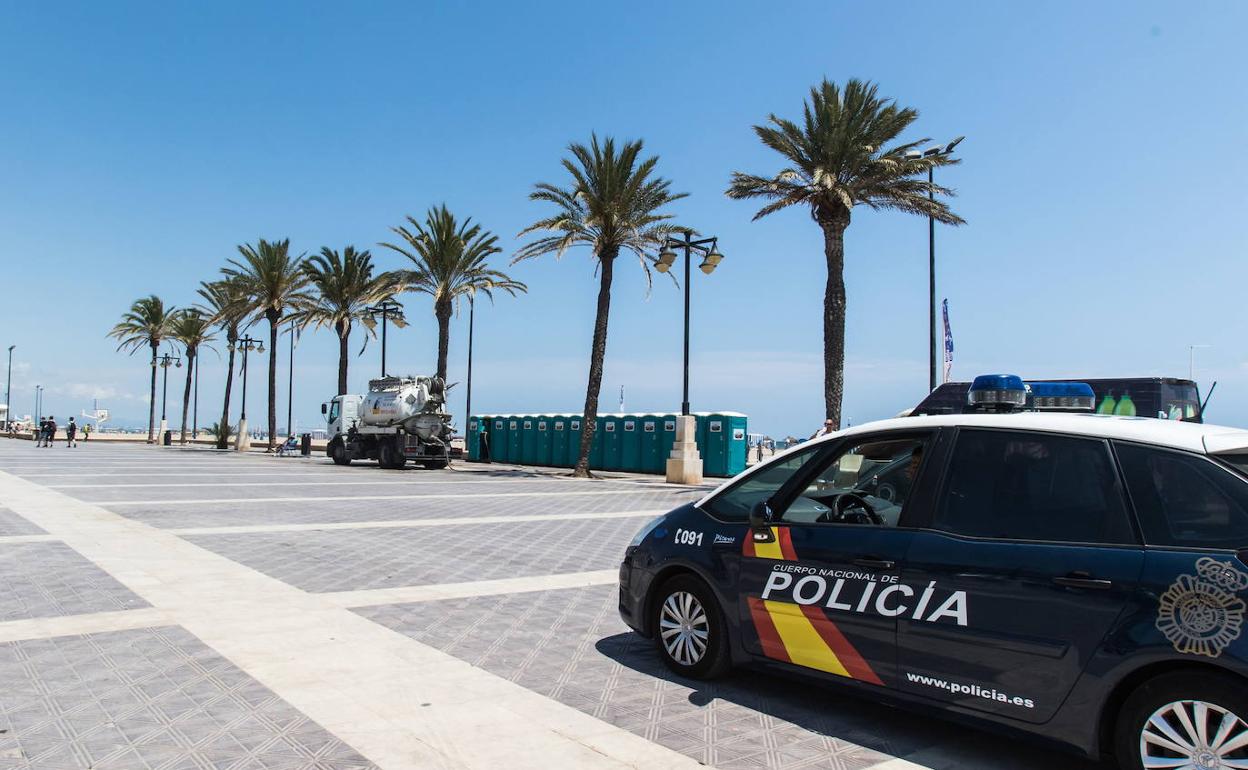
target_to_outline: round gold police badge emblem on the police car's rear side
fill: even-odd
[[[1248,588],[1248,574],[1204,557],[1196,574],[1179,575],[1161,597],[1157,630],[1179,653],[1217,658],[1239,638],[1244,600],[1236,594]]]

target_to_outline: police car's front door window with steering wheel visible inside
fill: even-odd
[[[896,527],[922,464],[924,437],[872,439],[827,458],[817,475],[776,512],[792,524]]]

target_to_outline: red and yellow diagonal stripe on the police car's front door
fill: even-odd
[[[787,527],[773,527],[770,543],[745,538],[748,558],[796,562]],[[827,614],[812,604],[746,598],[763,654],[774,660],[882,685],[870,664],[845,638]]]

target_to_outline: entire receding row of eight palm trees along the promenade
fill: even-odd
[[[960,225],[962,220],[936,197],[951,196],[952,191],[924,178],[932,168],[958,161],[948,154],[919,151],[931,141],[929,139],[899,142],[919,114],[881,97],[870,82],[850,80],[842,89],[824,80],[810,90],[810,99],[802,107],[800,121],[769,115],[764,125],[754,126],[764,146],[781,156],[782,166],[765,175],[734,172],[726,193],[739,200],[766,201],[754,215],[755,220],[790,206],[804,206],[824,236],[827,270],[824,404],[826,418],[840,427],[845,381],[845,231],[851,212],[856,206],[866,206]],[[537,237],[524,243],[512,260],[514,265],[544,255],[559,258],[574,247],[588,247],[595,262],[597,313],[575,475],[589,474],[617,260],[622,255],[634,256],[649,283],[650,267],[655,262],[650,255],[669,236],[694,232],[676,225],[668,210],[686,193],[674,192],[671,182],[655,173],[659,158],[643,156],[643,147],[641,141],[617,145],[613,139],[599,140],[597,135],[588,145],[570,144],[569,157],[562,161],[565,182],[540,182],[529,193],[529,200],[552,206],[553,211],[520,231],[520,237]],[[222,280],[201,288],[207,302],[203,318],[217,324],[230,342],[237,339],[240,328],[266,319],[271,348],[276,346],[278,326],[283,322],[333,328],[339,343],[338,389],[344,392],[347,346],[353,326],[359,323],[373,333],[371,305],[403,291],[422,292],[433,298],[438,322],[438,377],[446,378],[449,323],[457,301],[474,297],[477,292],[492,297],[495,290],[514,295],[527,287],[488,267],[488,258],[502,251],[498,238],[470,220],[459,222],[446,206],[431,208],[424,222],[407,217],[406,225],[392,230],[401,242],[382,246],[404,256],[412,267],[376,276],[368,252],[357,252],[353,247],[341,255],[323,248],[319,255],[305,260],[290,255],[288,241],[240,246],[241,260],[231,260],[222,270]],[[155,296],[140,300],[114,328],[112,336],[131,352],[151,347],[154,357],[162,339],[177,338],[186,346],[190,359],[193,356],[188,341],[195,339],[198,347],[208,338],[172,334],[171,326],[182,328],[168,319],[176,313]],[[232,371],[232,351],[230,358]],[[276,359],[270,358],[271,447],[276,433]],[[154,368],[154,397],[155,383]],[[227,378],[221,421],[226,427],[228,406]],[[155,406],[151,419],[155,419]]]

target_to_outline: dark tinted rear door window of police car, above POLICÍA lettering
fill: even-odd
[[[1013,540],[1134,543],[1103,441],[960,431],[932,527]]]

